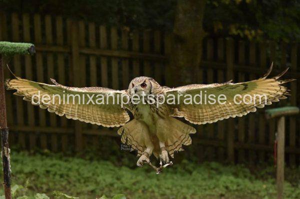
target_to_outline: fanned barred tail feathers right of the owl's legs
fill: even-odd
[[[175,151],[183,150],[182,145],[191,144],[189,134],[195,133],[196,129],[172,117],[164,119],[164,122],[161,123],[163,123],[161,124],[163,127],[160,126],[161,130],[159,131],[163,132],[157,133],[163,135],[165,148],[171,157],[174,157]]]

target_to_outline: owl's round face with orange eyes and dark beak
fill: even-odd
[[[148,77],[136,77],[129,84],[129,93],[131,95],[141,95],[144,93],[145,95],[151,94],[152,84],[150,81],[151,78]]]

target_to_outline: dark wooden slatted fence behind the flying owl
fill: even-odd
[[[49,78],[69,86],[97,86],[125,89],[137,76],[153,77],[162,85],[176,80],[166,75],[170,36],[159,31],[133,31],[98,26],[62,17],[1,14],[0,40],[32,42],[36,55],[8,60],[17,76],[48,82]],[[263,75],[274,61],[272,74],[287,66],[284,78],[299,78],[296,43],[261,43],[232,39],[205,39],[198,75],[201,82],[253,80]],[[8,71],[5,76],[10,77]],[[167,78],[168,77],[168,78]],[[275,106],[299,105],[299,81],[287,85],[291,96]],[[12,131],[10,143],[22,148],[51,151],[81,150],[100,143],[99,135],[117,136],[116,129],[67,120],[32,106],[6,93],[7,119]],[[271,105],[269,107],[273,107]],[[200,160],[230,162],[265,161],[273,157],[275,121],[264,119],[263,109],[242,118],[195,126],[192,136]],[[300,163],[300,119],[286,122],[286,162]],[[190,146],[188,146],[190,147]],[[187,148],[188,148],[187,147]]]

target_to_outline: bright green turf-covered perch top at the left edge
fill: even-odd
[[[0,42],[0,54],[5,56],[10,55],[33,55],[35,47],[29,43],[13,43],[13,42]]]

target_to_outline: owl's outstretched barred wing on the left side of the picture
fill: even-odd
[[[116,100],[122,94],[126,95],[125,90],[118,91],[101,87],[75,88],[60,85],[52,79],[51,81],[55,85],[16,77],[7,80],[5,85],[7,90],[16,90],[15,95],[24,96],[23,99],[30,101],[33,105],[39,105],[40,108],[47,109],[59,116],[65,115],[68,119],[105,127],[124,125],[129,120],[125,109],[116,101],[113,104],[113,99]],[[98,94],[103,97],[97,96]],[[107,95],[109,95],[108,98]],[[38,98],[39,104],[37,104]]]

